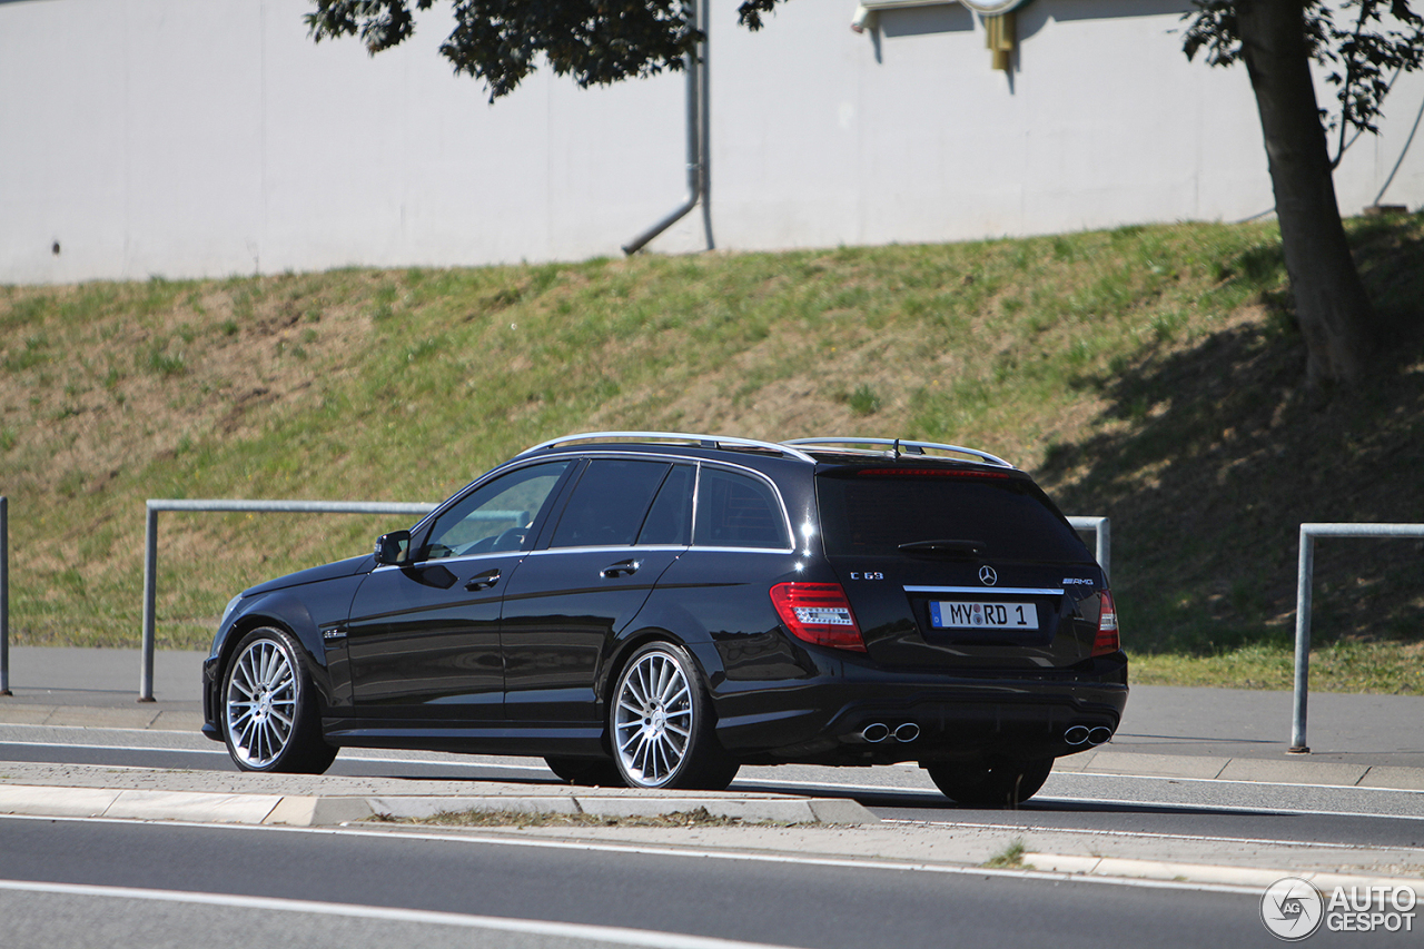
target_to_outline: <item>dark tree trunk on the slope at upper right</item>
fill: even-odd
[[[1280,244],[1306,339],[1306,383],[1350,385],[1374,345],[1374,311],[1354,269],[1320,124],[1302,0],[1242,0],[1242,58],[1260,110]]]

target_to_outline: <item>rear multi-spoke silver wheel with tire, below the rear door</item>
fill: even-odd
[[[628,660],[614,690],[609,738],[614,764],[634,788],[721,791],[736,777],[696,665],[672,643],[649,643]]]

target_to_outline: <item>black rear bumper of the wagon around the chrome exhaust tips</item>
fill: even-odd
[[[722,693],[718,738],[740,758],[768,762],[1058,758],[1105,741],[1128,701],[1125,658],[1087,677],[844,673],[776,690],[763,684],[756,695]],[[894,732],[906,724],[913,728],[900,740]],[[871,725],[884,728],[867,737]]]

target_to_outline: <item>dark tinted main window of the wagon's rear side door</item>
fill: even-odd
[[[550,547],[628,547],[672,467],[666,462],[594,459],[558,519]]]

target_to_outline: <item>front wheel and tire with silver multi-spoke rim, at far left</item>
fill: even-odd
[[[300,645],[288,633],[252,630],[222,675],[222,737],[242,771],[322,774],[336,748],[322,741],[320,711]]]

